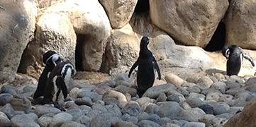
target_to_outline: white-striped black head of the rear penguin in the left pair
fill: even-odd
[[[60,59],[60,56],[56,54],[54,51],[48,51],[43,55],[43,63],[50,65],[53,64],[56,66],[58,63],[61,63],[62,60]]]

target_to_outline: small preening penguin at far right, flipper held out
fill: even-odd
[[[228,59],[227,61],[227,75],[238,75],[240,69],[243,66],[243,58],[247,59],[250,61],[252,66],[255,66],[254,61],[243,52],[243,49],[236,45],[226,45],[222,49],[222,54],[223,56]]]

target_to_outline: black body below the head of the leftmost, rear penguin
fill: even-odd
[[[46,81],[48,79],[48,73],[50,73],[51,68],[49,66],[45,66],[43,69],[43,73],[41,73],[40,78],[38,80],[38,87],[35,90],[34,99],[37,99],[40,96],[44,95],[45,92],[45,86],[46,86]]]

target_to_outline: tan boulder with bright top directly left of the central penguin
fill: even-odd
[[[129,70],[138,58],[139,44],[140,40],[129,24],[111,30],[110,40],[106,44],[105,71],[117,75]]]

